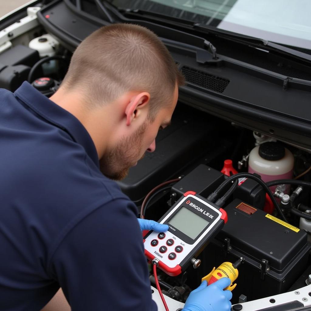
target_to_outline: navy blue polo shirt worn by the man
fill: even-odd
[[[0,309],[156,310],[137,208],[83,125],[29,83],[0,90]]]

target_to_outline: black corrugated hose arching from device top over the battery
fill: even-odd
[[[262,181],[262,179],[260,179],[257,175],[254,175],[254,174],[251,174],[251,173],[238,173],[238,174],[235,174],[235,175],[232,175],[230,176],[229,178],[227,178],[224,182],[222,182],[218,187],[217,189],[211,193],[208,197],[207,197],[207,200],[210,200],[211,202],[215,202],[217,196],[219,195],[219,193],[221,192],[221,190],[223,188],[225,188],[231,181],[235,180],[235,179],[239,179],[241,177],[245,177],[245,178],[250,178],[250,179],[253,179],[255,181],[257,181],[261,186],[262,188],[265,189],[266,193],[268,194],[268,196],[270,197],[270,199],[272,200],[274,206],[276,207],[278,213],[281,215],[281,218],[287,222],[286,220],[286,217],[284,216],[281,208],[279,207],[279,205],[277,204],[276,202],[276,199],[275,197],[273,196],[271,190],[269,189],[269,187],[267,186],[266,183],[264,183]]]

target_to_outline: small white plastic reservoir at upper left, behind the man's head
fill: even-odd
[[[59,42],[49,34],[42,35],[29,42],[29,48],[37,50],[40,57],[54,56],[58,47]]]

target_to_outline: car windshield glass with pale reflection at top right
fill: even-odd
[[[111,0],[111,4],[311,49],[311,0]]]

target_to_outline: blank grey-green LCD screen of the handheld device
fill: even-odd
[[[184,206],[168,222],[193,240],[210,223]]]

